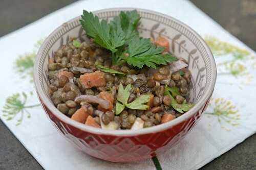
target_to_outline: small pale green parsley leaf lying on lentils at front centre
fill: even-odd
[[[131,103],[127,103],[130,91],[132,87],[131,84],[127,85],[125,89],[123,88],[122,83],[120,83],[117,93],[117,103],[116,103],[116,115],[120,114],[125,107],[129,109],[137,109],[137,110],[146,110],[148,108],[147,105],[143,105],[144,103],[147,103],[150,101],[150,95],[140,95],[137,99],[135,99]]]

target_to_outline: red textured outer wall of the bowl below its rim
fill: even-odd
[[[166,130],[134,136],[99,135],[76,128],[56,117],[44,103],[47,115],[58,131],[79,150],[111,162],[135,162],[168,151],[198,122],[208,101],[193,116]]]

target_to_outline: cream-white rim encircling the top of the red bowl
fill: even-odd
[[[76,122],[75,120],[71,119],[70,117],[62,114],[51,102],[50,100],[47,98],[47,96],[44,94],[40,83],[39,83],[39,74],[38,74],[38,63],[39,63],[39,59],[40,56],[42,54],[42,51],[44,50],[46,44],[48,43],[48,41],[50,40],[50,38],[56,34],[56,32],[63,27],[62,25],[59,26],[58,28],[56,28],[44,41],[44,43],[42,43],[41,47],[39,48],[39,51],[36,55],[35,58],[35,63],[34,63],[34,83],[35,83],[35,88],[36,91],[38,93],[38,98],[40,97],[41,99],[41,103],[44,103],[44,105],[46,105],[46,107],[52,112],[52,114],[54,114],[56,117],[58,117],[61,121],[72,125],[82,131],[87,131],[90,133],[94,133],[94,134],[99,134],[99,135],[113,135],[113,136],[137,136],[137,135],[143,135],[143,134],[148,134],[148,133],[156,133],[159,131],[164,131],[168,128],[171,128],[181,122],[183,122],[184,120],[187,120],[188,118],[190,118],[191,116],[193,116],[194,114],[196,114],[202,107],[204,107],[204,105],[206,104],[206,102],[209,100],[209,98],[211,97],[211,94],[214,90],[215,87],[215,83],[216,83],[216,77],[217,77],[217,69],[216,69],[216,63],[215,63],[215,59],[214,56],[212,55],[210,48],[208,47],[208,45],[206,44],[206,42],[203,40],[203,38],[193,29],[191,29],[189,26],[187,26],[185,23],[179,21],[178,19],[175,19],[172,16],[168,16],[166,14],[162,14],[160,12],[156,12],[156,11],[152,11],[152,10],[146,10],[146,9],[140,9],[140,8],[106,8],[106,9],[101,9],[101,10],[96,10],[93,11],[93,13],[100,13],[100,12],[106,12],[106,11],[120,11],[120,10],[138,10],[138,11],[142,11],[142,12],[148,12],[148,13],[153,13],[156,15],[160,15],[166,18],[169,18],[171,20],[174,20],[176,22],[178,22],[180,25],[184,26],[186,29],[188,29],[191,33],[193,33],[203,44],[203,46],[205,47],[205,50],[207,52],[207,54],[209,55],[209,59],[210,59],[210,63],[212,63],[211,65],[211,69],[212,69],[212,77],[211,77],[211,83],[209,84],[208,89],[204,92],[204,94],[202,95],[201,99],[199,100],[199,102],[196,103],[196,105],[190,109],[189,111],[187,111],[185,114],[175,118],[174,120],[161,124],[161,125],[157,125],[154,127],[150,127],[150,128],[144,128],[141,130],[104,130],[104,129],[100,129],[100,128],[94,128],[91,126],[87,126],[81,123]],[[69,22],[73,22],[74,20],[79,19],[80,16],[77,16],[69,21]]]

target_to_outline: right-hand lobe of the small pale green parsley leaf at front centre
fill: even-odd
[[[142,104],[147,103],[148,101],[150,101],[150,94],[142,94],[132,103],[126,104],[126,107],[129,109],[146,110],[148,106]]]

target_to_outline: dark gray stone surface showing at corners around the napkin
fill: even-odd
[[[256,1],[191,1],[256,51]],[[72,2],[75,0],[1,0],[0,37]],[[256,134],[201,169],[256,169],[255,143]],[[4,169],[37,170],[42,167],[0,121],[0,170]]]

